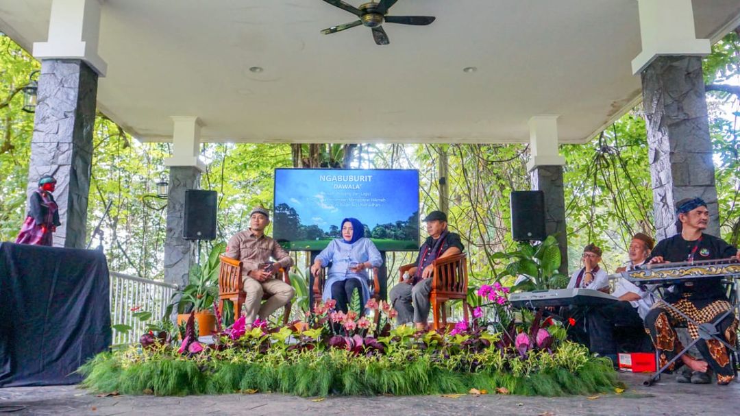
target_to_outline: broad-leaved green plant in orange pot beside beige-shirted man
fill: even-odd
[[[187,321],[190,312],[195,312],[198,336],[211,335],[216,327],[212,309],[213,301],[218,298],[218,271],[221,266],[218,255],[225,249],[225,243],[213,246],[204,264],[192,266],[189,284],[178,292],[178,325]]]

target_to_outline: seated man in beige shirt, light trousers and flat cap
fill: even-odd
[[[284,306],[295,295],[295,289],[275,278],[281,269],[289,269],[293,259],[277,241],[265,235],[270,224],[267,209],[255,207],[249,214],[249,229],[236,233],[226,246],[226,257],[242,261],[244,280],[244,313],[246,325],[252,326],[256,318],[264,321],[280,306]],[[275,259],[271,262],[270,258]],[[260,264],[263,268],[260,269]],[[267,265],[267,266],[265,266]],[[262,296],[270,295],[262,305]]]

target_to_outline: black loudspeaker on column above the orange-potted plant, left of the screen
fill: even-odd
[[[185,191],[183,238],[186,240],[215,240],[217,204],[218,192],[187,189]]]

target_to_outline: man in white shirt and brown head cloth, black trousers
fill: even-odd
[[[634,269],[645,263],[655,241],[648,235],[638,232],[630,241],[630,262],[617,272]],[[616,326],[633,329],[636,335],[645,336],[643,320],[650,311],[655,299],[647,290],[640,289],[625,278],[619,278],[611,294],[619,302],[593,308],[587,315],[588,338],[591,352],[610,358],[616,364],[617,343],[614,337]]]

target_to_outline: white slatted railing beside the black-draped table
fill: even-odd
[[[113,328],[114,346],[134,343],[144,334],[147,323],[158,321],[164,315],[172,293],[178,285],[110,272],[110,320],[113,325],[124,324],[132,329],[118,331]],[[136,312],[151,312],[143,321]]]

